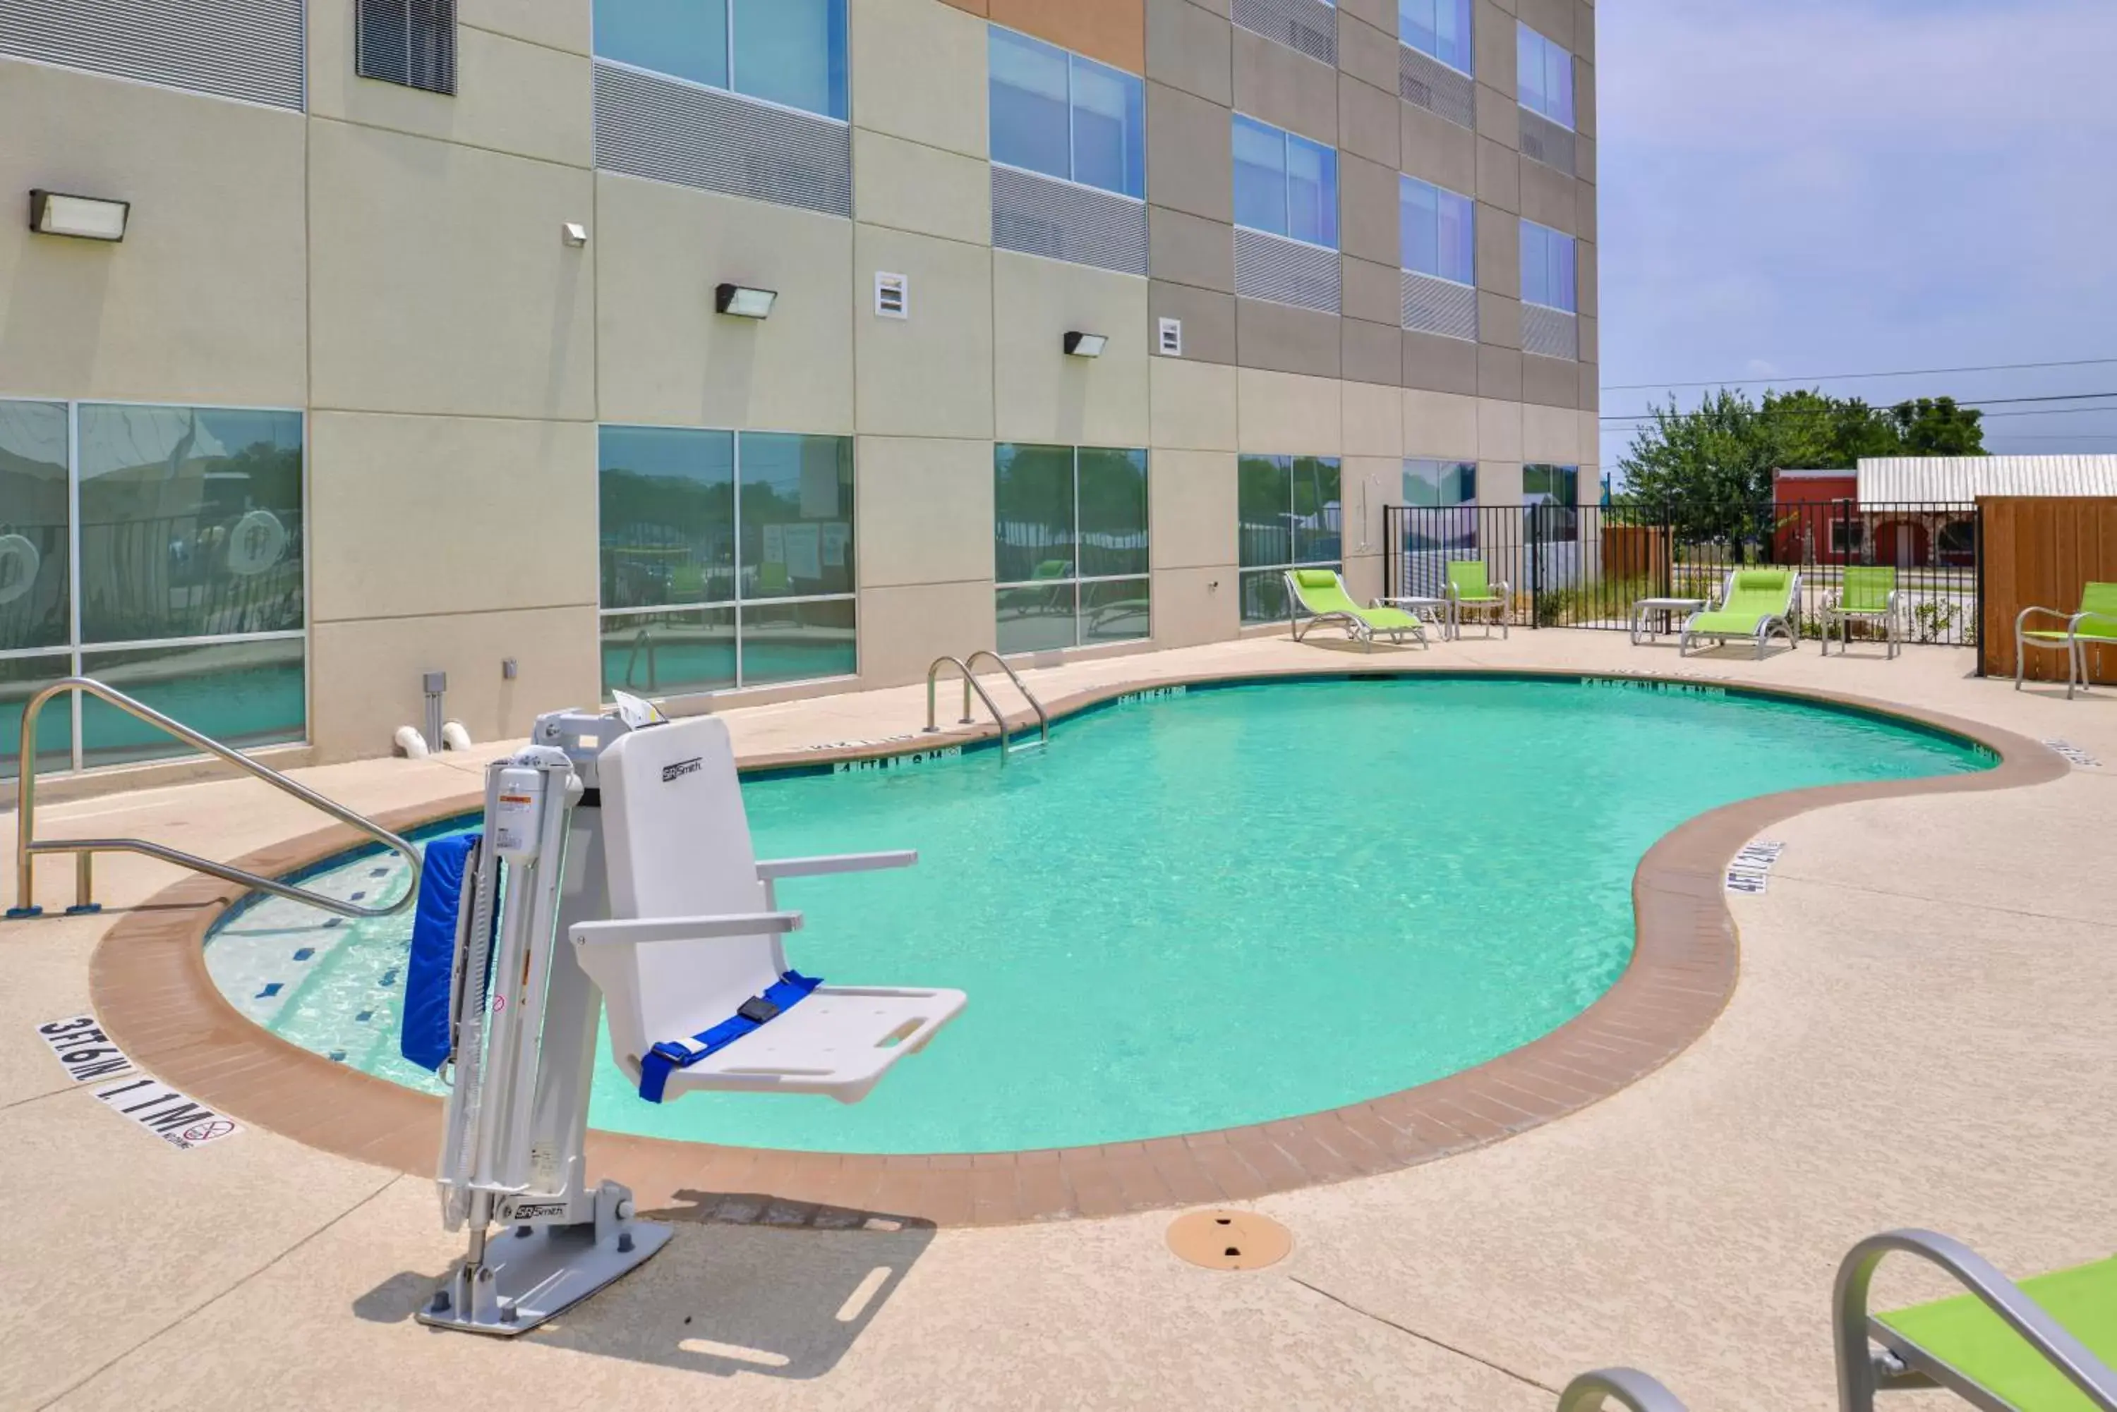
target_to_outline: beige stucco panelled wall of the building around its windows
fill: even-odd
[[[1592,246],[1579,368],[1505,347],[1518,305],[1492,282],[1486,347],[1459,360],[1467,381],[1440,383],[1459,392],[1344,381],[1270,347],[1323,315],[995,252],[987,25],[965,8],[851,4],[843,220],[595,171],[591,0],[464,0],[455,97],[356,78],[351,2],[311,0],[307,114],[0,59],[0,188],[133,201],[121,246],[0,224],[0,396],[307,409],[309,720],[326,758],[385,752],[430,669],[481,739],[599,694],[599,423],[853,436],[866,686],[993,646],[995,440],[1150,451],[1162,646],[1238,633],[1238,453],[1344,457],[1361,597],[1382,586],[1382,506],[1406,455],[1478,459],[1488,502],[1518,497],[1535,459],[1579,464],[1584,495],[1594,485],[1594,411],[1516,400],[1535,383],[1573,402],[1545,383],[1592,379]],[[1512,47],[1512,15],[1480,11]],[[1401,131],[1353,123],[1357,142],[1592,239],[1592,186],[1518,159],[1512,66],[1490,72],[1490,135],[1406,106]],[[1279,121],[1338,133],[1336,99],[1302,89],[1285,55],[1249,53],[1234,74]],[[1179,97],[1150,85],[1152,112]],[[1224,231],[1198,216],[1177,229],[1160,203],[1154,220],[1156,263],[1186,233],[1211,246]],[[1480,227],[1505,269],[1512,227]],[[876,318],[879,271],[910,279],[908,320]],[[777,290],[771,320],[716,315],[722,282]],[[1169,311],[1192,358],[1150,351]],[[1067,330],[1109,347],[1065,358]],[[1456,351],[1404,343],[1401,381]],[[1374,362],[1336,349],[1329,368]]]

